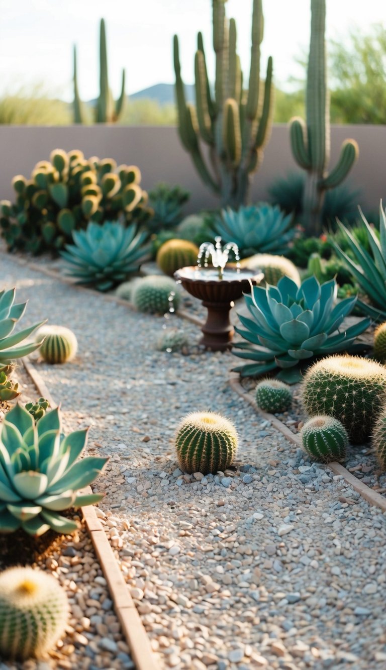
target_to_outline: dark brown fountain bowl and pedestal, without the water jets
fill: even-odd
[[[235,330],[229,319],[233,302],[243,293],[250,293],[251,283],[257,285],[264,275],[258,270],[227,268],[222,279],[211,267],[182,267],[174,273],[175,279],[190,295],[200,299],[207,308],[208,316],[202,326],[200,344],[212,351],[224,351],[231,348]]]

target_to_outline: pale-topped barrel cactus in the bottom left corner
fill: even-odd
[[[11,567],[0,574],[0,656],[40,658],[64,633],[66,592],[50,574]]]

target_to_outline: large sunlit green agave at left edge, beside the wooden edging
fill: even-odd
[[[0,533],[77,529],[75,521],[59,513],[103,498],[78,490],[91,484],[107,462],[93,456],[78,460],[86,441],[87,430],[61,435],[59,409],[38,423],[21,405],[5,415],[0,427]]]

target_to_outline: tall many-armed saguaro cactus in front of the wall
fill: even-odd
[[[272,58],[265,84],[260,80],[260,44],[263,40],[261,0],[253,0],[249,90],[243,91],[243,74],[236,50],[234,19],[227,20],[227,0],[212,0],[213,47],[216,80],[212,92],[206,70],[202,34],[198,33],[194,60],[196,107],[186,103],[181,77],[178,37],[174,36],[174,69],[180,139],[192,157],[204,184],[220,196],[222,206],[247,204],[250,176],[263,160],[272,112]],[[262,99],[263,98],[263,99]],[[210,167],[200,148],[209,147]]]

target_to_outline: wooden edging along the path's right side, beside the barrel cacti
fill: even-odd
[[[296,444],[296,446],[301,447],[302,446],[302,440],[300,440],[300,435],[296,435],[295,433],[292,432],[292,430],[289,429],[282,421],[280,421],[275,415],[269,414],[267,412],[264,412],[262,409],[260,409],[259,405],[257,405],[253,395],[251,393],[248,393],[243,389],[240,383],[240,378],[237,373],[231,373],[229,377],[229,383],[231,385],[231,388],[233,391],[238,393],[247,403],[252,405],[252,407],[263,417],[263,419],[266,419],[267,421],[270,421],[271,424],[279,430],[282,435],[284,435],[289,442],[292,442],[292,444]],[[340,474],[343,479],[347,482],[347,484],[350,484],[350,486],[357,491],[365,500],[371,503],[371,505],[375,505],[375,507],[379,507],[383,512],[386,512],[386,498],[381,496],[381,494],[377,493],[377,491],[374,491],[372,488],[367,486],[366,484],[363,484],[360,479],[357,479],[351,472],[348,472],[344,466],[342,466],[340,463],[337,463],[336,461],[332,461],[328,463],[328,468],[332,470],[335,474]]]

